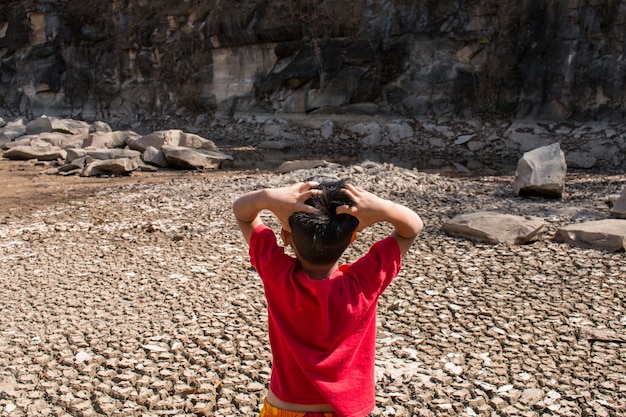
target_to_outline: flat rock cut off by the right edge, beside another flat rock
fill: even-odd
[[[554,240],[582,248],[623,252],[626,249],[626,220],[595,220],[561,227]]]

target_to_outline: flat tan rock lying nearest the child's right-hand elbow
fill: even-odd
[[[448,220],[443,224],[443,230],[475,242],[522,245],[544,233],[545,223],[537,217],[479,211]]]

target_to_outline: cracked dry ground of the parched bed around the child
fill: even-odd
[[[373,415],[626,415],[626,345],[579,332],[625,333],[625,255],[550,239],[606,217],[624,175],[568,174],[564,199],[541,200],[513,196],[511,177],[373,163],[104,179],[2,169],[2,416],[256,415],[265,304],[230,205],[314,173],[351,177],[426,224],[379,302]],[[482,209],[541,216],[548,234],[491,246],[441,232]],[[346,259],[388,232],[366,230]]]

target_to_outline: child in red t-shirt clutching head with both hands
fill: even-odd
[[[295,259],[263,224],[262,210],[278,218]],[[369,414],[378,297],[421,232],[420,217],[345,181],[252,191],[233,212],[267,300],[272,376],[261,417]],[[391,235],[339,265],[357,232],[379,222],[391,223]]]

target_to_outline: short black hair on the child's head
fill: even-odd
[[[296,212],[289,216],[291,237],[299,255],[315,265],[335,263],[351,242],[359,220],[350,214],[337,214],[343,205],[354,205],[342,189],[346,180],[321,182],[315,187],[323,191],[306,201],[318,213]]]

